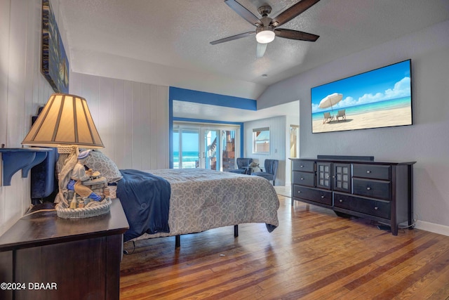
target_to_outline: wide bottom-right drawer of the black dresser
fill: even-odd
[[[334,207],[390,219],[391,204],[388,201],[368,200],[339,193],[335,193],[334,196]]]

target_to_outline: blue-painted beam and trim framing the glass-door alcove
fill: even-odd
[[[224,107],[234,107],[241,110],[257,110],[257,101],[248,98],[239,98],[234,96],[225,96],[217,93],[207,93],[203,91],[194,91],[189,89],[180,89],[170,86],[168,89],[168,129],[170,139],[168,143],[168,150],[170,151],[169,165],[173,168],[173,121],[185,121],[185,122],[205,122],[205,123],[217,123],[217,124],[236,124],[240,125],[240,156],[243,157],[243,123],[227,122],[227,121],[215,121],[207,119],[185,119],[185,118],[173,118],[173,100],[187,101],[193,103],[201,103],[208,105],[217,105]]]

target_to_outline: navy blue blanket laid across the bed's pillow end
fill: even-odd
[[[126,241],[144,233],[169,233],[170,183],[165,179],[138,170],[120,170],[123,178],[117,183],[117,197],[128,219]]]

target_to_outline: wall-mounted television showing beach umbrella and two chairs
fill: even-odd
[[[411,60],[311,88],[312,133],[412,124]]]

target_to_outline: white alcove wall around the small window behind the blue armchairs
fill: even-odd
[[[270,136],[270,153],[269,154],[255,154],[253,153],[253,129],[261,127],[269,127]],[[265,159],[278,159],[279,167],[276,175],[276,185],[286,184],[286,117],[274,117],[269,119],[260,119],[243,124],[244,136],[244,157],[250,157],[254,162],[260,164],[264,169]],[[265,170],[264,170],[265,171]]]

